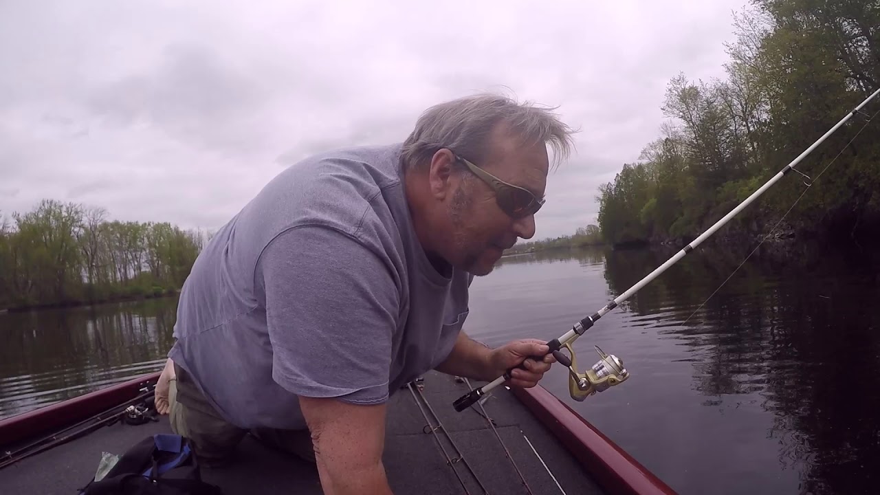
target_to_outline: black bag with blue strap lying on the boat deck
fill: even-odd
[[[157,434],[137,442],[99,481],[79,495],[221,495],[202,481],[188,439]]]

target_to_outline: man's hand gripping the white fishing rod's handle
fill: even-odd
[[[550,348],[544,341],[526,338],[515,340],[502,347],[493,349],[488,356],[489,367],[494,370],[492,380],[501,376],[508,369],[522,364],[525,369],[516,368],[510,373],[510,385],[514,387],[532,388],[538,384],[544,373],[556,362],[553,354],[547,354]],[[546,355],[545,355],[546,354]],[[544,356],[536,360],[534,357]]]

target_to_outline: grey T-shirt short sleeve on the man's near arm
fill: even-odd
[[[303,226],[272,240],[255,279],[265,294],[272,378],[296,395],[388,397],[400,290],[390,265],[346,233]]]

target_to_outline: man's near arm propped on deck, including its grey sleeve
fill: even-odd
[[[255,278],[272,378],[299,396],[323,490],[391,494],[381,460],[400,307],[388,265],[347,233],[301,226],[266,247]]]

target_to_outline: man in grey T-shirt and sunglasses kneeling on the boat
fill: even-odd
[[[328,151],[270,181],[209,241],[180,294],[157,392],[202,462],[251,431],[313,459],[328,494],[390,493],[388,396],[431,369],[533,387],[543,341],[462,330],[468,287],[535,232],[547,144],[568,127],[490,94],[429,108],[402,144]],[[529,357],[538,358],[529,358]]]

